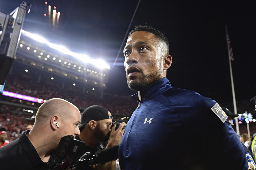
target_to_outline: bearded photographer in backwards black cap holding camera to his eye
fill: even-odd
[[[86,143],[86,146],[91,147],[92,153],[103,149],[99,142],[109,141],[106,148],[114,145],[119,145],[123,136],[125,123],[122,123],[117,130],[116,125],[111,128],[112,116],[111,113],[98,105],[88,107],[81,115],[81,124],[79,129],[81,134],[76,138]],[[103,165],[96,165],[99,169],[113,169],[116,168],[116,161],[111,161]],[[93,166],[93,168],[95,168]]]

